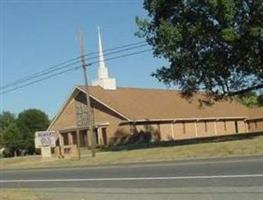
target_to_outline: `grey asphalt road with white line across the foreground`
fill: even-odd
[[[108,167],[5,170],[0,172],[0,186],[30,188],[48,193],[46,198],[51,199],[60,199],[62,196],[64,199],[123,199],[125,196],[127,200],[175,197],[262,200],[263,157]]]

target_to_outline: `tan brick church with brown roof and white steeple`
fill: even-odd
[[[98,79],[88,88],[98,145],[135,132],[168,141],[263,131],[263,107],[235,100],[201,107],[198,95],[189,102],[176,90],[117,87],[104,61],[100,31],[98,43]],[[64,145],[90,145],[85,95],[85,87],[76,86],[48,128]]]

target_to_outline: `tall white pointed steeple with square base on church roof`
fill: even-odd
[[[109,78],[108,68],[106,67],[102,49],[100,28],[98,27],[98,40],[99,40],[99,69],[98,69],[98,79],[92,82],[94,86],[101,86],[106,90],[116,89],[116,80],[114,78]]]

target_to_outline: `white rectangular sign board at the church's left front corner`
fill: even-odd
[[[35,147],[55,147],[58,136],[54,131],[35,132]]]

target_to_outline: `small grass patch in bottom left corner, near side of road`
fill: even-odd
[[[42,198],[27,189],[1,189],[1,200],[41,200]]]

